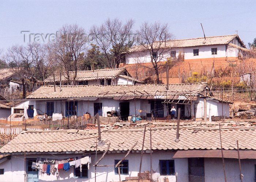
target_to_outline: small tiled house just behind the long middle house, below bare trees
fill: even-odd
[[[67,80],[72,81],[74,72],[63,73],[61,75],[61,84],[67,85]],[[53,85],[53,75],[45,79],[45,83]],[[60,73],[55,74],[55,82],[60,85]],[[77,71],[77,76],[74,85],[131,85],[142,84],[143,81],[134,79],[125,68],[114,69],[96,69],[90,71]]]

